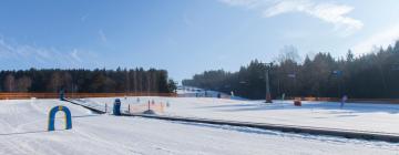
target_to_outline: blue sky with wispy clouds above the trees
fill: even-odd
[[[2,0],[0,69],[156,68],[175,80],[399,39],[398,0]]]

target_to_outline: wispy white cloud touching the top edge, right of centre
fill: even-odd
[[[342,35],[349,35],[364,27],[360,20],[348,17],[354,8],[326,1],[313,0],[221,0],[231,6],[258,10],[265,18],[285,13],[305,13],[321,21],[331,23]]]

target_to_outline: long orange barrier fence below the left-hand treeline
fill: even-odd
[[[172,96],[175,93],[65,93],[65,97],[115,97],[115,96]],[[18,99],[59,99],[59,93],[0,93],[0,100],[18,100]]]

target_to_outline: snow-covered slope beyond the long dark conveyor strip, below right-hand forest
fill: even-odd
[[[114,99],[89,99],[111,105]],[[136,97],[121,97],[126,104],[137,104]],[[170,103],[160,115],[216,118],[255,123],[328,127],[399,134],[399,105],[347,103],[342,110],[335,102],[237,101],[211,97],[140,97],[141,103]]]

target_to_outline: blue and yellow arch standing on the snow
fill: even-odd
[[[57,112],[62,111],[65,114],[65,130],[71,130],[72,128],[72,116],[71,116],[71,111],[66,107],[66,106],[54,106],[50,110],[49,113],[49,131],[54,131],[54,122],[55,122],[55,114]]]

